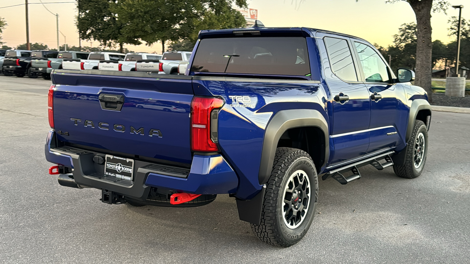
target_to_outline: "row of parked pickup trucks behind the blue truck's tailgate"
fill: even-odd
[[[51,78],[52,70],[155,71],[159,74],[184,74],[180,62],[188,63],[190,52],[161,54],[77,52],[50,50],[0,50],[0,72],[5,76]]]

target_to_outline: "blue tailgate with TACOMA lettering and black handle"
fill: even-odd
[[[99,148],[103,153],[191,162],[191,77],[92,72],[97,71],[56,70],[53,75],[59,140]]]

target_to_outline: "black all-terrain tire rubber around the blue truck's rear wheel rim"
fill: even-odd
[[[305,219],[296,228],[289,228],[284,222],[284,190],[290,176],[298,170],[305,171],[310,182],[310,203]],[[266,183],[260,225],[251,224],[251,229],[261,241],[277,247],[290,247],[307,233],[315,214],[318,200],[318,176],[312,158],[297,148],[277,148],[273,171]]]

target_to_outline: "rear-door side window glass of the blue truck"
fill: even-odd
[[[357,74],[352,61],[351,49],[345,39],[325,37],[329,64],[335,75],[345,81],[356,81]]]

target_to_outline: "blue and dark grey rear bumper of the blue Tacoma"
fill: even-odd
[[[145,201],[150,187],[193,194],[234,194],[238,177],[222,155],[194,155],[191,169],[140,160],[134,161],[133,180],[104,175],[104,164],[94,163],[96,153],[85,149],[56,147],[55,131],[49,131],[45,145],[46,160],[73,169],[73,179],[61,174],[63,186],[106,189]],[[62,178],[61,178],[62,177]]]

